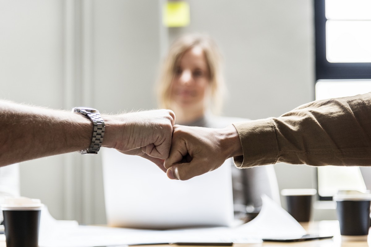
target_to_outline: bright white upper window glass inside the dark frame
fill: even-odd
[[[326,0],[326,58],[371,62],[371,0]]]

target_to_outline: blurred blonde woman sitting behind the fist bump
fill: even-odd
[[[157,83],[159,105],[171,109],[176,123],[223,128],[246,119],[221,117],[226,87],[216,43],[206,35],[181,36],[170,47]],[[250,220],[262,206],[261,194],[280,204],[276,174],[272,166],[238,169],[232,164],[235,217]]]

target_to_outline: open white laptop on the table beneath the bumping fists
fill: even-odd
[[[230,160],[187,181],[170,180],[154,163],[102,148],[109,226],[149,229],[231,226]]]

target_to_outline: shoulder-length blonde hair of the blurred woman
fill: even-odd
[[[157,99],[159,106],[171,109],[171,82],[174,80],[176,70],[183,54],[193,47],[201,47],[210,73],[211,111],[219,114],[223,105],[225,92],[224,77],[222,71],[221,53],[209,36],[204,34],[187,34],[179,37],[171,45],[160,69],[157,81]]]

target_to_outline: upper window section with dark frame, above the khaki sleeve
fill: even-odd
[[[371,0],[315,0],[316,80],[371,79]]]

